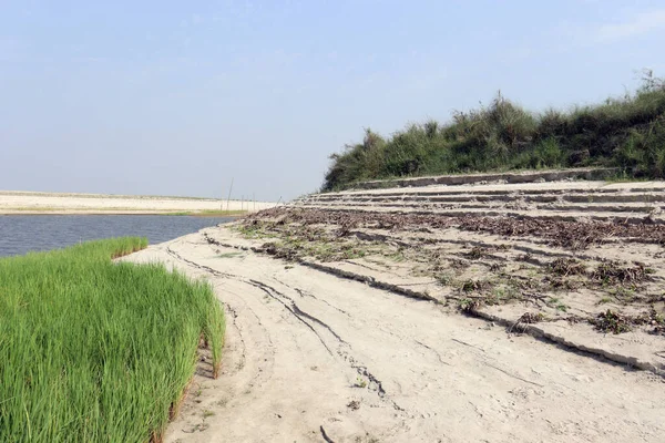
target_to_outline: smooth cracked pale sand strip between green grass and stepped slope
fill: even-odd
[[[202,233],[129,259],[209,279],[227,312],[223,374],[195,379],[167,441],[663,440],[647,372]]]

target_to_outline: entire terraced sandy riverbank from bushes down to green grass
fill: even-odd
[[[134,254],[227,313],[167,440],[662,441],[663,190],[325,194]]]

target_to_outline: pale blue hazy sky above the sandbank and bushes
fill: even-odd
[[[602,101],[664,48],[662,0],[0,0],[0,189],[293,198],[364,127]]]

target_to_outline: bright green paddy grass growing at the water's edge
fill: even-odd
[[[142,238],[0,259],[0,441],[158,441],[200,343],[218,368],[211,287],[113,262]]]

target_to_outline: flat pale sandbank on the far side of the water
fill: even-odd
[[[170,214],[254,212],[275,203],[214,198],[0,190],[0,214]]]

